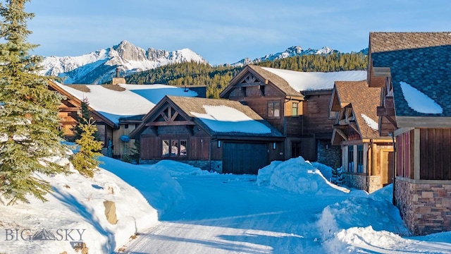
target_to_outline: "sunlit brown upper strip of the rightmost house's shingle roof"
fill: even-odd
[[[451,44],[451,32],[370,32],[369,50],[388,52]]]

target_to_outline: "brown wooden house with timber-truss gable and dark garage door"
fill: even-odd
[[[227,99],[164,97],[130,133],[140,162],[175,159],[220,173],[257,174],[283,159],[283,135],[250,107]]]

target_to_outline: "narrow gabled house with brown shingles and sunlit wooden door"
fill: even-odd
[[[393,179],[393,140],[378,133],[381,89],[364,81],[335,81],[330,99],[332,145],[340,145],[345,184],[369,193]]]

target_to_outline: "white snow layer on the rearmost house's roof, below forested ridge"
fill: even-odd
[[[297,91],[333,89],[335,81],[366,80],[366,71],[302,72],[263,67],[283,78]]]

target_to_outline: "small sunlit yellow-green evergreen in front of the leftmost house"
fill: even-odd
[[[73,167],[77,169],[83,176],[94,176],[94,172],[99,166],[99,156],[101,153],[101,147],[104,144],[101,141],[95,139],[95,133],[97,132],[97,126],[94,124],[94,120],[85,119],[85,124],[80,124],[82,129],[81,137],[75,140],[75,143],[79,145],[78,152],[70,157],[70,161]]]

